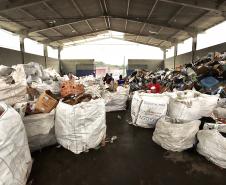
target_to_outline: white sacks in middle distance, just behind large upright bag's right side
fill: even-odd
[[[102,97],[105,100],[106,112],[126,110],[129,89],[119,86],[116,92],[105,91]]]

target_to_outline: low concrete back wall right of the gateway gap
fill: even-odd
[[[128,70],[134,70],[138,68],[145,68],[150,71],[162,69],[164,66],[163,60],[150,60],[150,59],[129,59]]]

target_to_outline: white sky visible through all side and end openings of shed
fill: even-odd
[[[198,34],[197,50],[226,42],[226,21]],[[122,33],[117,33],[123,38]],[[78,44],[78,43],[77,43]],[[20,50],[19,36],[0,29],[0,47]],[[192,39],[188,39],[178,45],[178,54],[192,50]],[[25,51],[43,56],[43,45],[25,39]],[[57,58],[56,49],[48,47],[48,55]],[[167,58],[172,57],[174,48],[167,52]],[[95,59],[108,64],[122,65],[128,59],[163,59],[163,52],[156,47],[136,44],[128,41],[105,38],[103,40],[91,41],[86,44],[65,47],[61,54],[63,59]]]

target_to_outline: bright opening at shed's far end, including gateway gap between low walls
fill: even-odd
[[[129,59],[163,60],[160,48],[124,41],[124,34],[108,32],[87,40],[66,43],[62,59],[93,59],[96,75],[112,73],[118,78],[126,74]]]

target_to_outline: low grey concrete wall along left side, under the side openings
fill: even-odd
[[[34,55],[30,53],[24,54],[25,63],[36,62],[45,67],[45,57]],[[0,65],[12,66],[16,64],[22,64],[22,56],[20,51],[1,48],[0,47]],[[47,67],[53,67],[59,72],[59,61],[54,58],[47,58]]]

